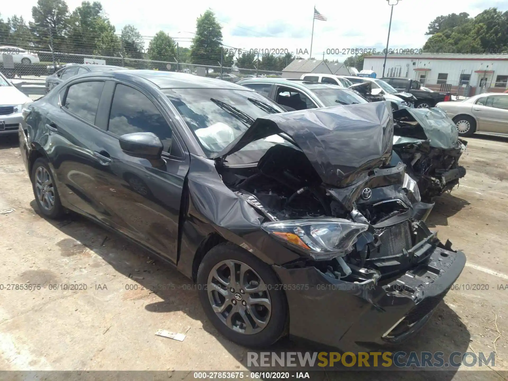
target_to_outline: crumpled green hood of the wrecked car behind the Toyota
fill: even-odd
[[[400,109],[393,112],[395,134],[407,138],[430,140],[430,146],[441,149],[460,148],[455,123],[438,107]],[[398,124],[397,122],[403,122]],[[404,123],[405,122],[405,123]]]

